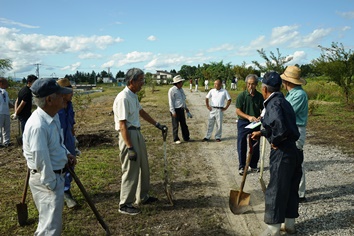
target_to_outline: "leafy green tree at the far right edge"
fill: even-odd
[[[321,56],[313,61],[316,69],[328,76],[329,81],[336,83],[344,92],[346,103],[352,93],[354,76],[354,53],[345,50],[342,43],[332,42],[331,47],[321,45]]]

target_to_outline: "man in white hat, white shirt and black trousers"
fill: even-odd
[[[189,130],[186,123],[184,111],[189,112],[186,104],[186,95],[182,89],[184,79],[177,75],[173,78],[173,86],[168,90],[168,103],[172,118],[173,142],[180,144],[181,140],[178,137],[178,126],[181,125],[183,140],[188,142]]]

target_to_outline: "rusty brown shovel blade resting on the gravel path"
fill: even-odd
[[[242,214],[249,210],[251,194],[230,190],[229,206],[235,215]]]

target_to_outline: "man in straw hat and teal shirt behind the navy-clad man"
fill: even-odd
[[[288,91],[285,98],[291,104],[296,115],[296,125],[299,129],[300,138],[296,141],[296,147],[299,150],[299,154],[304,158],[303,147],[306,139],[306,125],[308,116],[308,97],[306,92],[302,89],[301,85],[305,85],[306,81],[301,76],[301,69],[297,66],[288,66],[284,73],[280,75],[283,80],[283,86]],[[305,170],[304,164],[302,164],[302,177],[299,186],[299,201],[306,201],[305,198]],[[282,229],[287,232],[294,231],[294,224],[291,219],[285,219],[285,225],[282,225]]]

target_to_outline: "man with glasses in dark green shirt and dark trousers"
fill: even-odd
[[[260,130],[260,126],[254,129],[246,128],[251,122],[259,121],[263,109],[263,96],[256,90],[258,84],[257,75],[250,74],[246,77],[247,89],[238,95],[236,99],[237,122],[237,153],[239,160],[239,174],[243,175],[246,165],[247,154],[247,135],[253,131]],[[255,142],[255,141],[253,141]],[[253,145],[253,144],[252,144]],[[250,163],[251,171],[258,171],[257,163],[259,160],[259,144],[253,148],[252,159]]]

